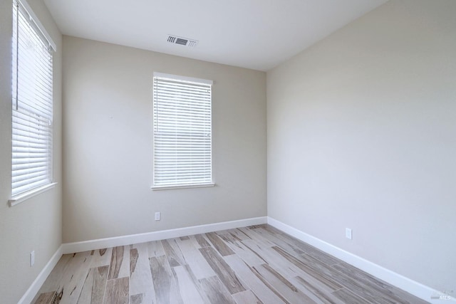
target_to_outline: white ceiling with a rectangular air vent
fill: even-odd
[[[65,35],[269,70],[387,0],[44,0]],[[199,41],[195,48],[168,35]]]

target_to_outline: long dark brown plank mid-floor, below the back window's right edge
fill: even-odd
[[[220,281],[227,287],[229,293],[239,293],[244,291],[245,288],[236,276],[236,273],[228,266],[221,256],[212,247],[200,248],[199,251],[206,259],[209,266],[217,273]]]

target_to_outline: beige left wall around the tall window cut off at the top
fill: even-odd
[[[57,187],[9,207],[11,195],[12,1],[0,1],[0,302],[17,303],[61,245],[61,34],[46,6],[29,0],[57,45],[54,68],[53,166]],[[35,265],[30,267],[30,252]]]

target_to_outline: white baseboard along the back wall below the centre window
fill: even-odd
[[[63,254],[89,251],[101,248],[110,248],[115,246],[125,246],[132,243],[144,243],[148,241],[157,241],[172,239],[180,236],[190,236],[192,234],[205,234],[207,232],[233,229],[244,226],[266,224],[267,217],[255,217],[251,219],[239,219],[237,221],[224,221],[222,223],[206,224],[199,226],[190,226],[178,229],[146,232],[145,234],[132,234],[129,236],[116,236],[113,238],[97,239],[90,241],[81,241],[74,243],[63,243]]]

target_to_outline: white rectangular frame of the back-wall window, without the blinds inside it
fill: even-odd
[[[157,106],[157,87],[156,87],[156,79],[162,79],[165,81],[171,81],[175,83],[182,83],[185,85],[192,85],[194,84],[195,87],[197,85],[207,85],[209,86],[209,152],[210,152],[210,157],[209,157],[209,162],[210,162],[210,181],[204,181],[204,182],[198,182],[198,183],[157,183],[157,178],[156,178],[156,167],[157,167],[157,157],[156,157],[156,143],[157,143],[157,138],[156,138],[156,132],[155,132],[155,127],[156,127],[156,106]],[[172,74],[167,74],[167,73],[153,73],[153,92],[152,92],[152,186],[150,187],[152,190],[167,190],[167,189],[186,189],[186,188],[200,188],[200,187],[214,187],[215,183],[213,181],[213,154],[212,154],[212,85],[213,81],[212,80],[205,80],[205,79],[200,79],[200,78],[192,78],[192,77],[187,77],[187,76],[182,76],[182,75],[172,75]]]

